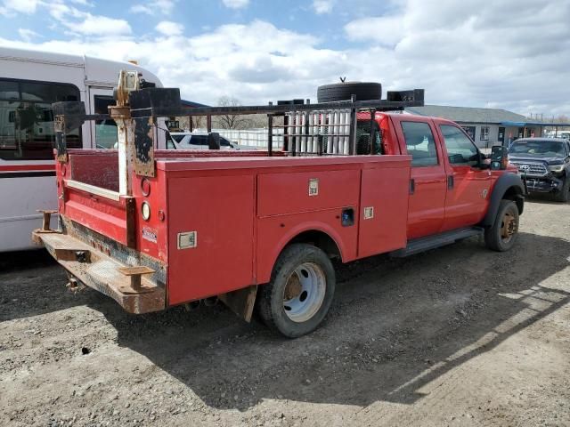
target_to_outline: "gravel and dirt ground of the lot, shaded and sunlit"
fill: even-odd
[[[43,253],[3,255],[0,425],[570,425],[570,205],[521,222],[506,254],[341,267],[295,341],[223,306],[130,316]]]

